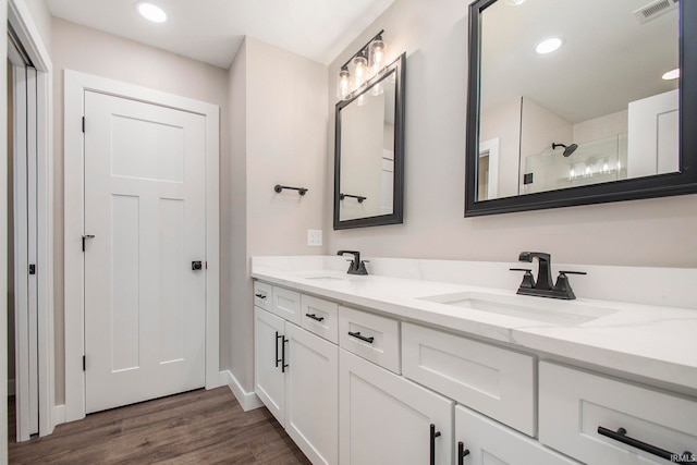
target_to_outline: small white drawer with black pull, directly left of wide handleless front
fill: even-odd
[[[339,306],[339,345],[400,374],[400,323],[395,320]]]

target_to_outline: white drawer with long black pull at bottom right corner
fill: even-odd
[[[697,455],[697,400],[551,363],[539,368],[539,440],[589,464],[680,463],[600,435],[624,428],[668,453]],[[620,439],[622,437],[620,436]],[[689,462],[693,457],[682,457]],[[697,456],[694,456],[697,460]]]

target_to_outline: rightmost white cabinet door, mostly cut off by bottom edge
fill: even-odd
[[[462,450],[458,448],[462,443]],[[466,451],[466,455],[462,453]],[[455,406],[456,465],[573,465],[577,464],[482,415]]]

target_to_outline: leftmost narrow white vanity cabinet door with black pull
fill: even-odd
[[[284,326],[283,319],[254,308],[254,391],[281,425],[285,425],[285,375],[281,359]]]

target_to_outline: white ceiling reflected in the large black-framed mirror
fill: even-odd
[[[482,111],[526,97],[575,124],[677,88],[677,10],[645,24],[651,0],[499,0],[482,13]],[[537,54],[549,37],[564,45]]]

